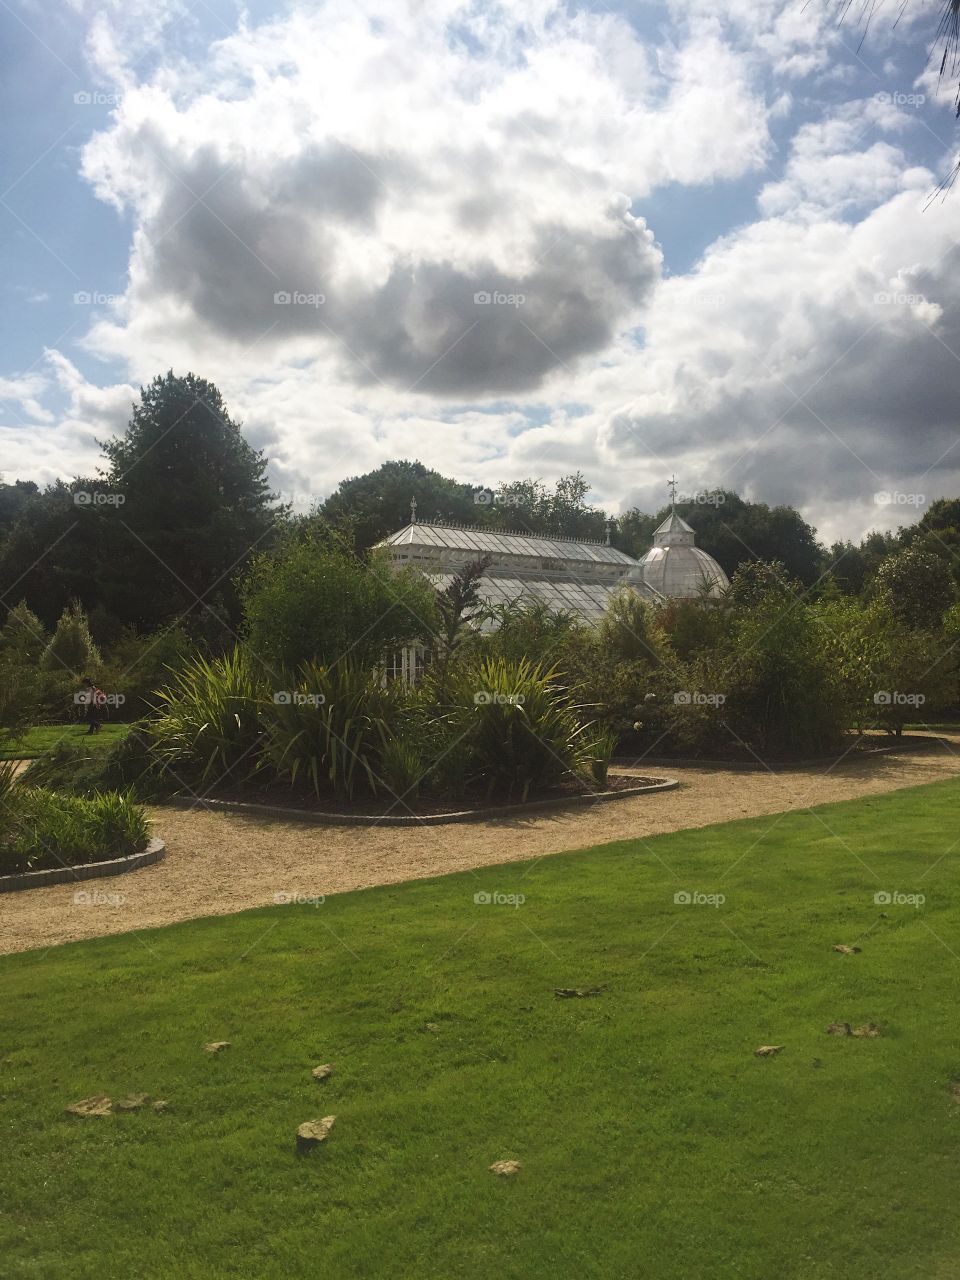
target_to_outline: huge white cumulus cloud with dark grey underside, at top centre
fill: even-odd
[[[545,3],[408,19],[297,12],[224,41],[195,92],[124,95],[83,161],[137,224],[127,321],[91,349],[189,326],[358,385],[527,392],[640,317],[660,255],[631,204],[767,152],[710,37],[657,65],[623,20]]]

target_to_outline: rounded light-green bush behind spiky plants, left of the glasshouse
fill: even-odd
[[[308,525],[257,557],[242,585],[246,637],[270,672],[303,663],[383,662],[435,628],[434,590],[416,570],[394,573],[383,553],[355,556]]]

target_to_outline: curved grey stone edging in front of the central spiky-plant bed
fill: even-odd
[[[618,791],[586,792],[579,796],[558,796],[550,800],[531,800],[526,804],[492,805],[484,809],[458,809],[451,813],[376,814],[319,813],[316,809],[288,809],[284,805],[244,804],[241,800],[186,800],[174,797],[165,805],[174,809],[206,809],[233,813],[244,818],[287,818],[291,822],[312,822],[321,827],[439,827],[456,822],[486,822],[492,818],[515,818],[548,809],[573,808],[585,804],[605,804],[611,800],[628,800],[631,796],[650,795],[654,791],[673,791],[680,778],[662,778],[643,787],[622,787]]]

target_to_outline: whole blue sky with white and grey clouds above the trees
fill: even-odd
[[[173,369],[298,508],[406,457],[914,521],[960,494],[954,92],[936,6],[842,8],[8,0],[3,479],[93,474]]]

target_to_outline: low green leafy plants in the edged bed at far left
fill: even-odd
[[[128,795],[86,799],[18,785],[0,818],[0,874],[122,858],[148,840],[146,815]]]

